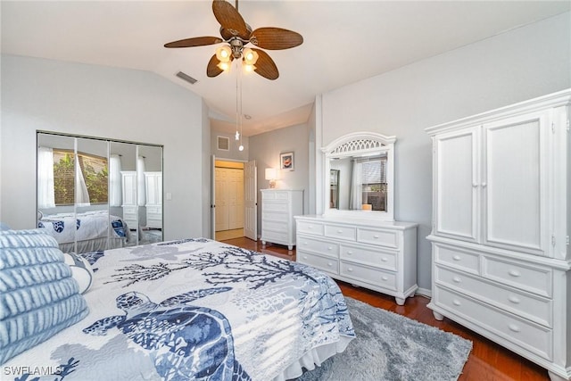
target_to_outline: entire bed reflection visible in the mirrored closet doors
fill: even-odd
[[[37,228],[54,236],[64,253],[76,252],[76,239],[77,253],[123,247],[132,241],[131,231],[125,221],[110,215],[108,211],[42,215]]]

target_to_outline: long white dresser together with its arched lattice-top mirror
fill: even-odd
[[[353,133],[322,148],[324,213],[296,216],[297,261],[394,296],[417,290],[417,224],[394,220],[395,137]]]

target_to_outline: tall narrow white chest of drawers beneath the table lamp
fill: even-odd
[[[261,189],[261,243],[295,245],[294,216],[303,214],[303,191]]]

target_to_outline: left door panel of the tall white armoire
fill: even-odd
[[[473,242],[478,239],[476,137],[476,128],[438,137],[434,166],[438,172],[436,231]]]

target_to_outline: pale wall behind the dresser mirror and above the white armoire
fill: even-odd
[[[353,131],[397,137],[395,219],[420,224],[421,288],[431,285],[432,153],[424,128],[571,87],[570,36],[567,12],[322,95],[318,146]]]

